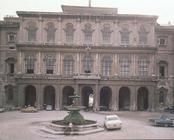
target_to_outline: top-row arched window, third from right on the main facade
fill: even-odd
[[[101,32],[102,32],[102,37],[103,37],[103,43],[110,43],[111,32],[112,32],[110,30],[110,25],[104,24]]]

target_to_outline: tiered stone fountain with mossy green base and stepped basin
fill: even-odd
[[[53,135],[84,135],[104,130],[96,121],[84,119],[80,114],[80,110],[85,108],[77,105],[77,100],[80,96],[74,94],[69,98],[72,99],[73,103],[70,106],[65,106],[65,109],[68,110],[68,115],[63,120],[45,122],[45,127],[42,127],[40,131]]]

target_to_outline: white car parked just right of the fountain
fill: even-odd
[[[104,126],[106,129],[121,129],[122,122],[117,115],[108,115],[105,117]]]

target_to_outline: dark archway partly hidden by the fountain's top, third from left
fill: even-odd
[[[74,95],[74,88],[71,86],[66,86],[63,88],[63,100],[62,105],[71,105],[72,99],[69,98],[69,96]]]

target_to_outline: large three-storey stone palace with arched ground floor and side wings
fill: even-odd
[[[62,10],[0,22],[1,107],[63,109],[74,93],[96,111],[173,105],[174,26],[116,8]]]

